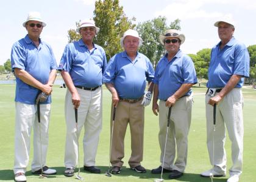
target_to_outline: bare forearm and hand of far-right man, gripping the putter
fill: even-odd
[[[221,90],[221,92],[210,98],[208,104],[212,106],[214,106],[214,104],[218,104],[224,98],[224,96],[226,96],[227,93],[229,93],[236,86],[241,78],[241,75],[232,75],[226,86]]]

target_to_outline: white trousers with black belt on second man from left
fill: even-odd
[[[102,87],[94,91],[77,89],[80,106],[77,109],[78,133],[84,126],[84,165],[95,166],[99,133],[102,129]],[[72,95],[67,89],[65,98],[66,147],[65,167],[75,168],[78,162],[77,135]],[[78,135],[78,136],[79,136]]]

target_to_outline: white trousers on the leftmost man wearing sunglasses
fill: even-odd
[[[26,172],[26,167],[29,164],[30,134],[32,127],[34,127],[34,160],[32,161],[31,169],[34,172],[41,168],[41,162],[43,166],[46,164],[51,104],[40,105],[41,123],[38,123],[37,105],[16,102],[15,107],[15,160],[13,172],[14,174]]]

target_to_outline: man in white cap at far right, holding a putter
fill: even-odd
[[[233,37],[232,19],[215,22],[221,41],[212,49],[208,68],[205,107],[207,118],[207,147],[213,169],[202,172],[203,177],[226,175],[226,127],[232,143],[233,166],[227,182],[239,181],[243,163],[243,95],[244,77],[249,76],[249,53],[246,45]],[[216,130],[213,106],[216,105]],[[226,126],[226,127],[225,127]],[[214,146],[214,147],[213,147]],[[214,155],[213,155],[214,153]]]

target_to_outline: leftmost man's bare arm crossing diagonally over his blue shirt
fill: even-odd
[[[18,78],[20,78],[24,83],[41,90],[42,92],[46,93],[47,95],[51,94],[52,87],[49,84],[40,83],[40,81],[35,79],[26,70],[15,68],[14,69],[14,74]]]

